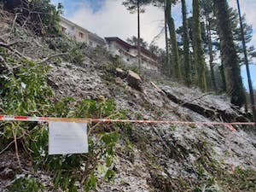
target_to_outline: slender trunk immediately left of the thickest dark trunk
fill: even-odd
[[[212,33],[211,33],[211,21],[209,20],[209,15],[207,15],[207,40],[208,40],[208,49],[209,49],[209,56],[210,56],[210,69],[211,69],[211,78],[212,78],[212,85],[217,93],[217,85],[215,81],[215,75],[214,75],[214,67],[213,67],[213,55],[212,55]]]

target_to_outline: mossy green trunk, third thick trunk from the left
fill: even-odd
[[[197,72],[197,85],[202,91],[207,91],[204,52],[201,40],[199,0],[193,0],[193,51]]]

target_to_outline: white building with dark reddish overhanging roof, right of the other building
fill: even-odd
[[[108,44],[108,50],[113,55],[119,55],[120,59],[127,64],[136,64],[138,61],[137,57],[137,46],[126,43],[120,38],[111,37],[105,38]],[[141,60],[142,67],[148,70],[158,71],[160,65],[157,61],[157,56],[149,52],[147,49],[141,47]]]

